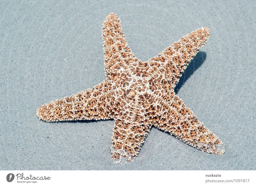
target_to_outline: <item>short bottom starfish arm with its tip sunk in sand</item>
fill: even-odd
[[[137,122],[138,116],[134,119],[115,119],[113,128],[111,153],[112,159],[121,162],[122,157],[127,161],[138,156],[140,147],[144,143],[152,124],[147,121]]]

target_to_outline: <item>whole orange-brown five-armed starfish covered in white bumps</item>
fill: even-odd
[[[146,62],[134,56],[121,21],[110,13],[102,27],[106,79],[92,89],[37,109],[44,121],[114,119],[111,157],[131,161],[152,126],[199,150],[225,152],[222,141],[197,120],[174,92],[182,73],[210,36],[199,28]]]

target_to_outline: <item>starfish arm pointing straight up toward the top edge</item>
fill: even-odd
[[[138,60],[125,41],[121,21],[114,13],[110,13],[102,26],[103,50],[106,77],[116,73],[120,67],[131,60]]]

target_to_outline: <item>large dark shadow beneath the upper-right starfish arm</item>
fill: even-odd
[[[200,51],[196,54],[194,59],[190,62],[184,74],[181,76],[179,83],[175,87],[175,93],[178,93],[182,85],[190,78],[190,76],[204,63],[206,53]]]

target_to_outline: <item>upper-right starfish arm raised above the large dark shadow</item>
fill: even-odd
[[[175,85],[178,83],[190,61],[207,42],[209,36],[210,30],[208,28],[199,28],[185,35],[170,47],[167,47],[156,57],[151,58],[149,62],[156,66],[164,64],[165,74],[169,79],[172,79],[172,84]]]

